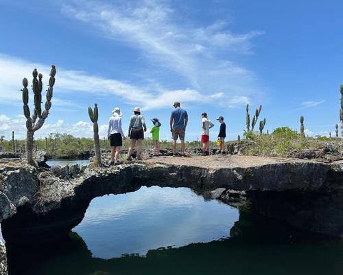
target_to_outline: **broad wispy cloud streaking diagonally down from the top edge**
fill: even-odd
[[[61,12],[108,39],[138,48],[150,65],[167,67],[187,79],[192,91],[222,91],[227,98],[261,93],[255,74],[229,60],[252,54],[251,40],[261,31],[235,34],[224,21],[198,27],[166,1],[69,1]]]

